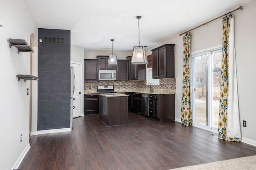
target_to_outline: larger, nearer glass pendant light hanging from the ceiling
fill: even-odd
[[[141,16],[136,17],[138,19],[139,27],[139,46],[133,47],[132,52],[132,62],[134,64],[146,64],[146,50],[143,46],[140,46],[140,18]]]

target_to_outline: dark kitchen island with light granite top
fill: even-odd
[[[99,94],[99,117],[107,126],[126,125],[128,120],[126,94]]]

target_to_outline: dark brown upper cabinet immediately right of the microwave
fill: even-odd
[[[128,60],[117,60],[116,80],[129,80]]]

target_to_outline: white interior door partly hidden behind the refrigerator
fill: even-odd
[[[76,108],[73,110],[73,117],[79,117],[82,115],[81,106],[82,106],[82,97],[81,97],[81,82],[82,82],[82,64],[81,63],[71,63],[70,66],[74,67],[74,98],[73,106]]]

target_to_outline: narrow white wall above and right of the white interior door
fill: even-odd
[[[78,47],[76,45],[71,45],[70,48],[70,61],[75,63],[81,63],[82,64],[82,86],[81,86],[81,98],[82,98],[82,104],[81,104],[81,111],[84,113],[84,48]]]

